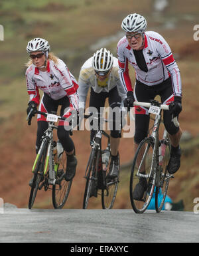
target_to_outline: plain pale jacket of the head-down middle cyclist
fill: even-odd
[[[78,96],[80,100],[80,107],[85,107],[86,97],[88,94],[88,90],[90,87],[93,88],[94,92],[109,92],[115,86],[117,86],[117,90],[121,99],[124,100],[126,98],[125,90],[123,90],[123,86],[121,86],[121,82],[119,80],[118,74],[118,60],[113,57],[113,68],[110,72],[110,75],[105,82],[100,82],[97,79],[95,74],[95,70],[92,66],[92,57],[88,59],[80,70],[80,76],[78,80],[79,88],[78,88]]]

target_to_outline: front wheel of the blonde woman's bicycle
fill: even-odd
[[[46,160],[46,154],[47,154],[47,148],[48,148],[47,146],[48,146],[48,140],[45,140],[42,146],[42,150],[40,152],[40,156],[38,157],[38,162],[36,163],[36,167],[33,171],[34,178],[33,178],[31,193],[29,195],[29,209],[33,207],[34,200],[36,198],[36,193],[38,192],[38,186],[40,184],[40,181],[42,180],[42,175],[44,172],[44,163]]]

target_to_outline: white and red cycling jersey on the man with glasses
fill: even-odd
[[[147,86],[161,84],[161,82],[171,76],[174,96],[182,96],[178,65],[174,60],[168,43],[166,43],[165,39],[159,33],[153,31],[145,32],[143,56],[147,64],[147,72],[141,70],[137,65],[133,49],[129,46],[126,37],[123,37],[117,44],[117,55],[119,77],[125,92],[132,91],[128,69],[128,63],[130,63],[135,68],[136,79]]]

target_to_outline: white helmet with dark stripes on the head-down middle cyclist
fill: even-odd
[[[100,75],[103,75],[104,72],[108,72],[112,68],[113,55],[107,49],[101,48],[94,53],[92,66],[94,70],[100,72]]]

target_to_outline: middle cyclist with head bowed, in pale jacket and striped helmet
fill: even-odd
[[[121,101],[126,97],[121,86],[118,74],[117,58],[105,48],[94,53],[82,66],[78,80],[78,96],[80,98],[80,108],[85,108],[86,97],[90,88],[90,107],[95,107],[100,113],[100,107],[105,105],[108,98],[111,108],[121,107]],[[101,113],[102,114],[102,113]],[[113,112],[113,120],[115,115]],[[95,130],[91,129],[90,140],[95,135]],[[111,130],[111,162],[109,166],[109,177],[115,178],[119,174],[119,140],[121,131],[116,128],[113,121]]]

